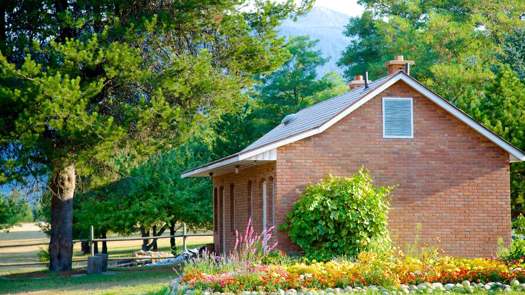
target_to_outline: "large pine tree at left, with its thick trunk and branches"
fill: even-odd
[[[0,182],[51,193],[50,270],[71,268],[77,179],[170,146],[282,65],[276,26],[297,7],[255,1],[7,1],[0,19]]]

